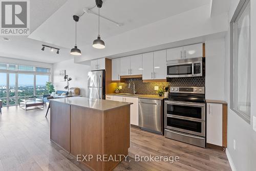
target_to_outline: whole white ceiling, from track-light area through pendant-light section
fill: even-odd
[[[101,19],[100,35],[104,40],[124,32],[148,25],[158,20],[183,13],[209,4],[210,0],[103,0],[100,15],[121,23],[118,27]],[[73,56],[69,51],[75,44],[75,23],[73,15],[79,15],[84,8],[95,6],[95,0],[33,0],[30,1],[31,34],[7,36],[10,41],[0,39],[0,56],[55,63]],[[92,10],[98,13],[98,9]],[[98,17],[84,14],[77,23],[77,45],[92,44],[97,37]],[[60,48],[60,54],[41,51],[41,45]]]

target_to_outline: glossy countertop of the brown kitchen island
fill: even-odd
[[[109,101],[109,100],[93,99],[93,98],[87,98],[87,97],[67,97],[67,98],[57,98],[57,99],[50,99],[50,100],[66,103],[70,105],[76,105],[83,108],[94,109],[98,111],[108,111],[115,108],[120,108],[121,106],[133,104],[129,102]]]

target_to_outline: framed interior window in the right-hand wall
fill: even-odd
[[[241,1],[231,23],[231,110],[250,123],[250,2]]]

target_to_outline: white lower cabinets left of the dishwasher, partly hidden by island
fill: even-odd
[[[110,96],[106,95],[106,100],[123,101],[133,103],[131,105],[131,124],[139,125],[139,98],[126,96]]]

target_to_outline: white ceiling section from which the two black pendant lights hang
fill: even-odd
[[[101,38],[109,38],[138,27],[154,23],[190,9],[209,3],[208,0],[107,0],[103,1],[100,14],[123,24],[117,27],[108,20],[101,19]],[[72,48],[75,38],[74,14],[79,15],[84,8],[95,6],[94,0],[69,0],[29,37],[60,47]],[[93,12],[98,13],[94,8]],[[78,47],[92,44],[98,35],[98,17],[84,14],[77,23]]]

